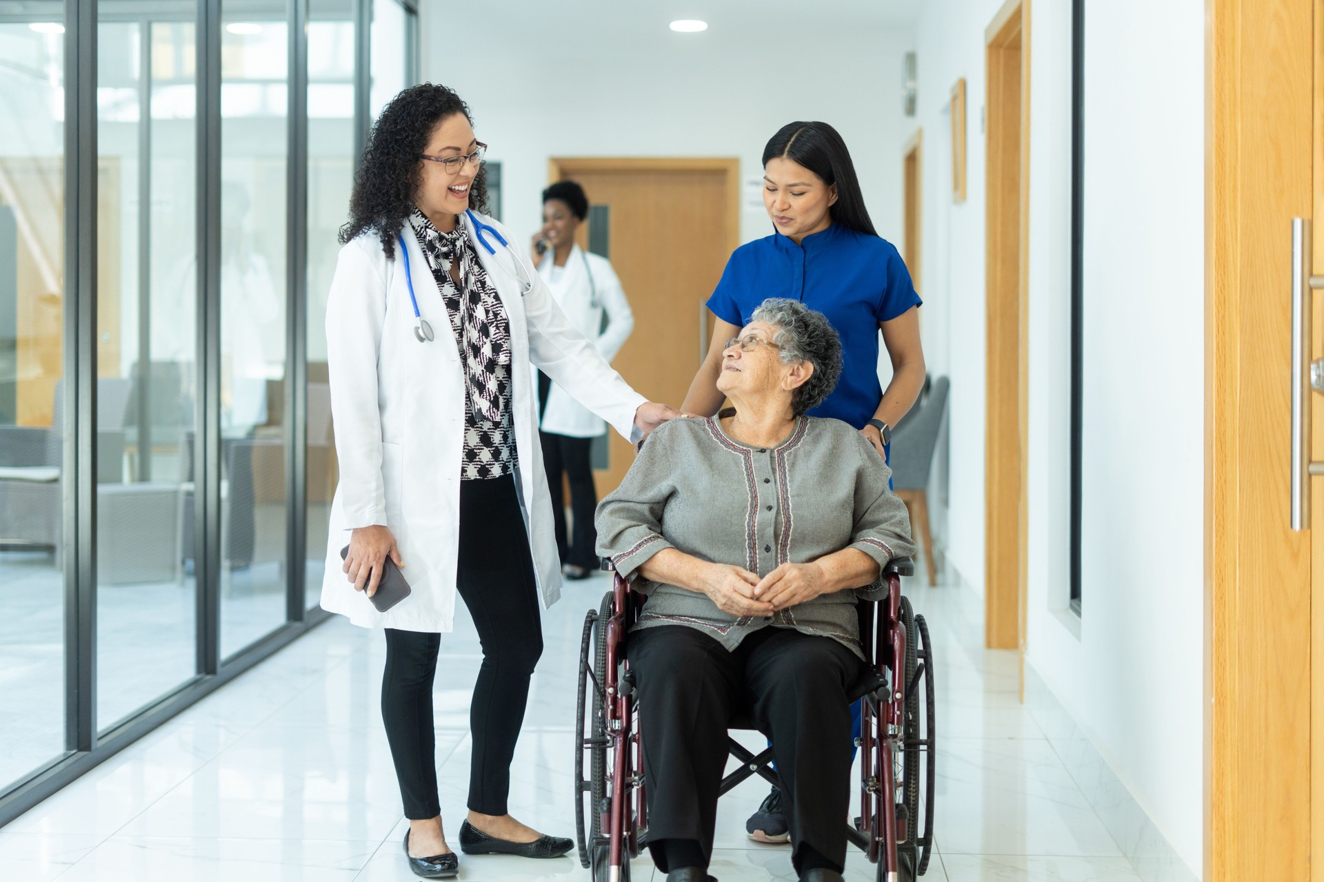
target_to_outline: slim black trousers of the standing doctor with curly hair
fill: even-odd
[[[506,815],[510,763],[524,722],[528,680],[543,655],[534,559],[511,475],[459,484],[457,588],[478,628],[483,662],[469,706],[473,764],[469,808]],[[408,603],[408,602],[406,602]],[[387,628],[381,718],[405,817],[441,815],[432,681],[440,633]]]

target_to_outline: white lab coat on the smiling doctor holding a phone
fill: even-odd
[[[495,221],[507,242],[511,234]],[[634,434],[634,413],[645,403],[567,321],[542,278],[526,270],[532,290],[520,296],[510,261],[491,233],[489,255],[469,218],[461,223],[510,316],[515,447],[523,529],[544,606],[560,596],[560,559],[552,528],[552,504],[538,440],[536,389],[530,362],[606,419],[618,432]],[[331,502],[322,608],[369,628],[450,631],[455,612],[459,546],[459,471],[465,426],[465,383],[446,304],[409,225],[402,230],[414,294],[436,339],[414,339],[404,261],[387,259],[375,233],[340,249],[327,303],[327,365],[340,483]],[[413,594],[387,612],[342,573],[340,549],[356,526],[391,528],[405,562]],[[503,586],[491,586],[494,591]]]

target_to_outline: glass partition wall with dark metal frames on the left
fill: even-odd
[[[0,4],[0,825],[322,620],[326,296],[414,17]]]

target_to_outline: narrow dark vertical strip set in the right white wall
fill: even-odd
[[[1084,446],[1084,0],[1071,0],[1071,509],[1068,606],[1080,615]]]

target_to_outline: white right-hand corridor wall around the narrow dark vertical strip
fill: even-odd
[[[924,348],[952,377],[948,559],[984,579],[984,29],[928,0]],[[1204,5],[1090,4],[1086,26],[1083,616],[1068,595],[1070,4],[1033,7],[1029,657],[1198,874],[1202,849]],[[948,94],[968,94],[951,205]],[[931,159],[932,157],[932,159]],[[1115,833],[1116,834],[1116,833]],[[1128,844],[1123,842],[1127,848]]]

